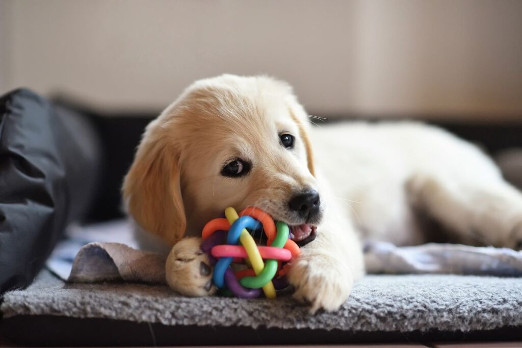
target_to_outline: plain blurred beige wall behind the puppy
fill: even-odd
[[[517,0],[0,1],[0,92],[160,109],[268,73],[316,114],[522,115]]]

